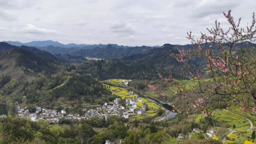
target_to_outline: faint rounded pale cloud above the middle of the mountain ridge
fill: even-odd
[[[112,26],[110,26],[110,29],[115,33],[135,33],[136,28],[132,26],[130,23],[118,20],[112,23]]]

